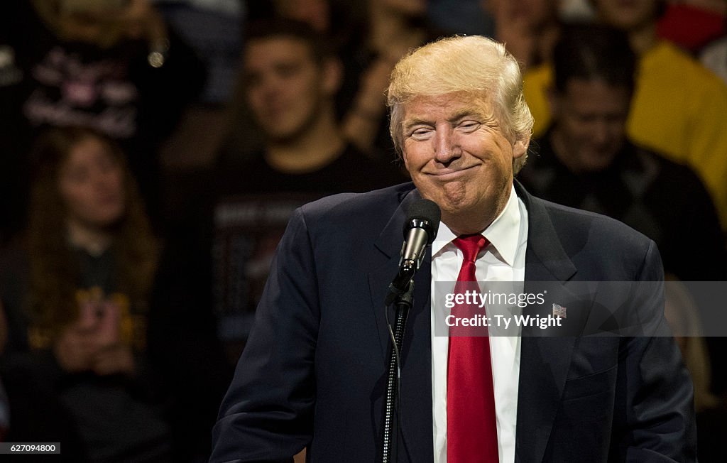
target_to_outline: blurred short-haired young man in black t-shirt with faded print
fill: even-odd
[[[345,140],[335,113],[340,61],[325,38],[292,20],[253,24],[242,60],[246,104],[264,148],[222,153],[214,185],[214,301],[236,359],[278,239],[293,210],[332,193],[406,181]]]

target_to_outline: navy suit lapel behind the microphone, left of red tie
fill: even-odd
[[[376,318],[382,358],[386,359],[385,365],[388,364],[390,353],[390,337],[386,325],[384,299],[387,287],[398,271],[406,210],[419,198],[421,198],[419,191],[411,190],[403,198],[374,243],[386,259],[380,267],[369,272],[372,309]],[[414,276],[414,307],[411,308],[406,321],[401,350],[401,432],[411,462],[433,460],[430,281],[431,251],[427,249],[422,267]],[[389,316],[393,325],[393,310],[389,311]],[[422,440],[422,437],[425,440]],[[404,448],[401,446],[399,454],[400,456],[404,454]]]

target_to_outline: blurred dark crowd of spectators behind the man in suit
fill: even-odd
[[[482,34],[535,118],[517,180],[659,246],[727,461],[727,338],[678,283],[727,279],[726,26],[724,0],[0,2],[0,441],[205,462],[290,215],[408,181],[393,65]]]

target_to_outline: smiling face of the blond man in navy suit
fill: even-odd
[[[417,97],[403,111],[403,161],[422,197],[455,233],[484,230],[505,209],[526,143],[507,140],[491,104],[472,94]]]

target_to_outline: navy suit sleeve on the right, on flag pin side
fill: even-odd
[[[638,281],[663,281],[659,251],[652,241],[643,259]],[[655,287],[660,288],[661,285]],[[661,299],[659,294],[648,297]],[[696,462],[694,391],[688,371],[670,336],[663,305],[653,306],[644,320],[646,336],[622,339],[619,389],[626,397],[616,410],[616,461]],[[620,435],[619,435],[620,434]]]

